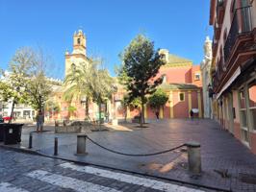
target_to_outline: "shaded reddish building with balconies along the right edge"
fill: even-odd
[[[211,0],[215,115],[256,154],[256,1]]]

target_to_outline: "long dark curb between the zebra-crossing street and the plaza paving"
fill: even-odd
[[[95,164],[95,163],[90,163],[90,162],[83,162],[83,161],[73,160],[73,159],[66,158],[64,156],[46,155],[46,154],[40,153],[39,151],[30,150],[30,149],[27,149],[27,148],[17,148],[17,147],[7,146],[7,145],[3,145],[3,144],[0,144],[0,148],[7,149],[7,150],[10,150],[10,151],[14,151],[14,152],[18,152],[18,153],[30,154],[30,155],[33,155],[33,156],[44,156],[44,157],[49,157],[49,158],[65,160],[65,161],[73,162],[73,163],[76,163],[76,164],[79,164],[79,165],[92,165],[92,166],[96,166],[96,167],[111,169],[111,170],[115,170],[115,171],[129,173],[129,174],[136,174],[136,175],[142,176],[142,177],[154,178],[154,179],[158,179],[158,180],[174,181],[174,182],[178,182],[178,183],[181,183],[181,184],[188,184],[188,185],[191,185],[191,186],[194,186],[194,187],[197,187],[197,188],[205,188],[205,189],[217,190],[217,191],[223,191],[223,192],[231,192],[232,191],[230,189],[223,189],[223,188],[218,188],[218,187],[213,187],[213,186],[207,186],[207,185],[204,185],[204,184],[196,184],[196,183],[183,181],[183,180],[168,179],[168,178],[164,178],[164,177],[161,177],[161,176],[152,176],[152,175],[149,175],[149,174],[146,174],[146,173],[138,173],[138,172],[135,172],[135,171],[128,171],[128,170],[124,170],[124,169],[120,169],[120,168],[114,168],[114,167],[110,167],[110,166],[106,166],[106,165],[100,165],[100,164]]]

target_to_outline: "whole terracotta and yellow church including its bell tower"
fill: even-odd
[[[193,65],[192,60],[180,58],[168,53],[168,50],[161,49],[160,54],[165,60],[157,77],[164,76],[163,84],[159,85],[166,91],[168,101],[164,108],[160,110],[160,118],[190,118],[191,110],[193,110],[196,117],[204,116],[203,100],[202,100],[202,77],[199,65]],[[85,34],[79,30],[73,35],[73,50],[72,52],[65,51],[65,76],[71,72],[72,67],[79,64],[86,64],[89,62],[87,56],[87,39]],[[140,108],[124,109],[121,105],[121,100],[125,94],[125,89],[120,84],[115,84],[117,92],[113,97],[102,106],[103,113],[109,116],[109,119],[117,118],[133,119],[141,112]],[[85,103],[80,100],[74,100],[67,103],[64,100],[64,86],[56,86],[52,101],[60,106],[58,112],[48,112],[49,119],[84,119],[85,118]],[[69,108],[75,107],[73,112]],[[155,111],[149,105],[145,105],[145,118],[155,119]],[[90,119],[97,119],[98,107],[96,104],[90,102],[89,109]]]

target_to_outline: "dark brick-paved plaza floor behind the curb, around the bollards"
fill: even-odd
[[[127,126],[133,130],[134,125]],[[151,122],[147,126],[133,132],[91,132],[89,136],[105,147],[130,154],[154,153],[191,140],[198,141],[201,143],[202,176],[192,177],[188,173],[187,154],[183,150],[160,156],[120,156],[88,141],[89,154],[76,156],[75,133],[34,133],[33,150],[53,155],[54,137],[58,137],[60,157],[222,190],[256,191],[256,156],[230,133],[220,130],[215,121],[176,119]],[[46,129],[53,130],[52,127]],[[24,129],[22,142],[16,147],[28,147],[30,131]],[[228,178],[221,177],[225,169]]]

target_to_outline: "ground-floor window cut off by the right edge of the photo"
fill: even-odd
[[[251,119],[251,126],[256,131],[256,82],[250,84],[248,88],[249,94],[249,116]]]

